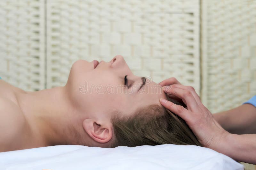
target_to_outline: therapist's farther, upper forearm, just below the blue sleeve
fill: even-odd
[[[243,104],[234,109],[213,114],[215,120],[230,133],[256,134],[256,107]]]

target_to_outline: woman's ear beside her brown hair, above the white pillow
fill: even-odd
[[[84,130],[92,139],[100,143],[106,143],[112,138],[112,124],[98,124],[95,120],[87,118],[83,121]]]

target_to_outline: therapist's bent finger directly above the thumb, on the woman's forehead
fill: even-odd
[[[190,92],[188,90],[176,88],[173,86],[171,88],[168,86],[165,86],[163,89],[164,89],[164,92],[166,92],[167,94],[172,94],[172,95],[182,99],[182,101],[188,107],[188,110],[190,110],[190,109],[192,111],[198,110],[198,104],[197,104],[196,99],[194,98],[192,92]]]

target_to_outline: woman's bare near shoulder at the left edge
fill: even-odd
[[[0,95],[0,152],[20,147],[19,138],[26,119],[20,108],[10,99]]]

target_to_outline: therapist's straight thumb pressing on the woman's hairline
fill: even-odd
[[[160,103],[170,110],[171,112],[175,113],[176,115],[180,116],[183,120],[188,121],[190,118],[190,114],[187,109],[185,109],[183,106],[176,105],[172,103],[171,101],[165,100],[163,98],[160,98]]]

